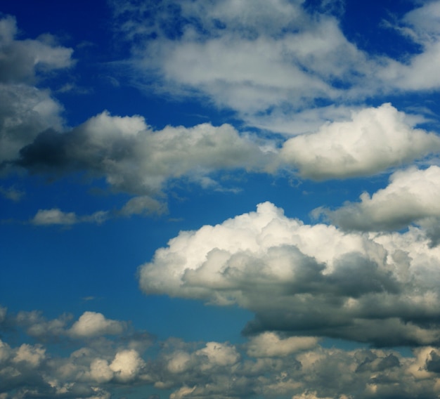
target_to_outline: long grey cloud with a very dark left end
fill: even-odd
[[[162,211],[151,195],[171,178],[203,182],[219,169],[261,169],[270,154],[233,126],[167,126],[153,131],[143,117],[103,112],[66,133],[48,130],[20,151],[16,162],[34,172],[53,174],[84,170],[105,176],[115,190],[139,195],[123,214]]]

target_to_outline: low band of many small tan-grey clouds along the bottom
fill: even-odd
[[[28,343],[27,332],[56,325],[64,318],[46,320],[37,312],[13,315],[0,308],[0,391],[2,399],[109,399],[114,395],[169,391],[169,398],[437,398],[440,393],[440,351],[416,348],[412,355],[391,349],[326,348],[316,338],[280,336],[264,332],[247,342],[185,342],[167,339],[153,344],[145,334],[115,332],[112,340],[93,336],[88,329],[81,346],[56,355],[50,342]],[[105,325],[104,315],[87,312],[77,323]],[[27,316],[27,318],[25,317]],[[27,320],[27,325],[23,325]],[[65,326],[71,321],[63,319]],[[97,322],[97,323],[96,323]],[[112,320],[121,325],[127,322]],[[13,327],[13,329],[11,329]],[[107,328],[107,327],[106,327]],[[72,329],[72,327],[70,327]],[[11,336],[15,331],[16,335]],[[89,334],[93,332],[93,334]],[[11,338],[8,343],[5,336]],[[69,339],[67,335],[59,337]],[[20,337],[20,338],[19,338]],[[40,336],[41,337],[41,336]],[[39,336],[34,335],[34,339]],[[17,341],[25,342],[16,343]],[[142,344],[143,342],[143,344]],[[153,346],[151,346],[153,344]]]

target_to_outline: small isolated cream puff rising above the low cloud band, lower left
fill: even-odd
[[[74,338],[89,338],[107,334],[122,334],[124,329],[126,329],[124,322],[107,319],[102,313],[84,312],[69,329],[69,334]]]

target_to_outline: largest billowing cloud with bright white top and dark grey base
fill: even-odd
[[[183,231],[139,269],[146,294],[255,313],[247,334],[278,330],[378,346],[440,342],[440,249],[417,228],[344,233],[305,225],[271,203]]]

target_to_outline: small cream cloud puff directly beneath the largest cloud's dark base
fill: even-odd
[[[313,349],[318,339],[313,336],[290,336],[282,339],[274,332],[264,332],[250,339],[247,354],[254,358],[273,358]]]

